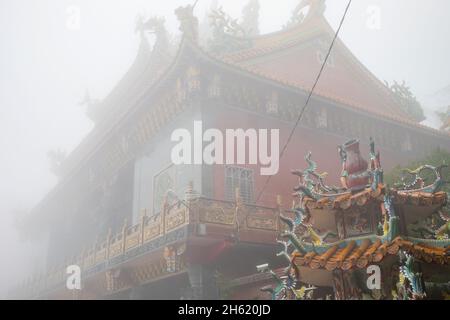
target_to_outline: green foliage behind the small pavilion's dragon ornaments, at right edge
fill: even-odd
[[[393,187],[397,183],[401,182],[402,176],[405,176],[404,169],[414,170],[426,164],[435,167],[441,166],[443,164],[450,165],[450,152],[442,149],[436,149],[425,158],[410,162],[406,167],[397,166],[384,175],[384,181],[386,184]],[[444,174],[446,176],[447,173],[448,170],[444,170]],[[421,177],[425,180],[426,183],[433,182],[435,179],[435,176],[431,172],[424,172]],[[445,177],[445,179],[448,180],[448,177]],[[450,185],[444,185],[442,191],[450,193]]]

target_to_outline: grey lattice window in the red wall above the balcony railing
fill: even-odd
[[[236,188],[245,203],[253,203],[253,170],[242,167],[225,168],[225,199],[236,200]]]

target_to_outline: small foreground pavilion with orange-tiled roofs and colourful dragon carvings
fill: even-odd
[[[297,201],[280,215],[287,268],[266,268],[276,285],[262,291],[292,300],[450,298],[448,166],[407,170],[389,187],[373,142],[370,164],[358,140],[339,150],[338,187],[325,184],[310,153],[308,167],[293,172]]]

